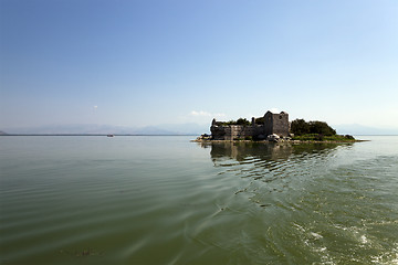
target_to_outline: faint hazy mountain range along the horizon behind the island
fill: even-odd
[[[363,125],[332,125],[339,135],[398,135],[398,128]],[[2,128],[0,135],[201,135],[210,134],[210,125],[164,124],[145,127],[111,125],[49,125],[27,128]]]

